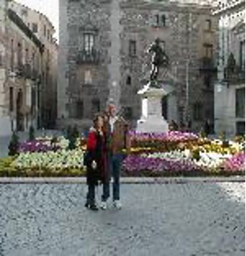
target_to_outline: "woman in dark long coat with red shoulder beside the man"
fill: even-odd
[[[103,133],[104,119],[97,114],[93,119],[87,139],[87,202],[85,206],[91,210],[98,210],[95,203],[95,186],[103,181],[105,176],[105,136]]]

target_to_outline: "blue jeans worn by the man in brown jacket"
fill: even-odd
[[[110,179],[113,178],[113,201],[119,200],[119,176],[123,155],[113,154],[109,157],[109,180],[102,185],[102,201],[107,201],[110,196]]]

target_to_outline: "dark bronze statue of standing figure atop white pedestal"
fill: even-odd
[[[151,66],[151,75],[150,75],[150,85],[151,87],[157,86],[157,78],[159,75],[159,68],[166,68],[169,65],[169,58],[165,53],[165,50],[161,48],[161,41],[159,38],[156,38],[154,43],[149,47],[148,52],[152,53],[152,66]]]

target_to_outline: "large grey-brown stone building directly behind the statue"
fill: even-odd
[[[149,79],[150,44],[160,38],[170,65],[160,80],[164,116],[213,120],[217,18],[210,6],[172,1],[60,0],[58,124],[89,125],[114,98],[127,119],[141,115],[137,91]]]

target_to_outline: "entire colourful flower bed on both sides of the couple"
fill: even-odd
[[[130,132],[131,154],[122,163],[127,176],[209,176],[245,174],[245,140],[224,143],[188,132]],[[0,159],[0,176],[83,176],[85,139],[68,149],[64,137],[41,137]]]

